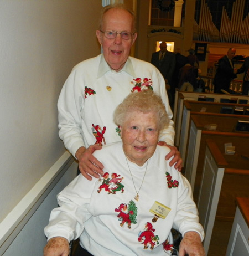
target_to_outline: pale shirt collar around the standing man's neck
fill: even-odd
[[[132,62],[131,62],[131,58],[128,57],[125,66],[123,66],[123,68],[116,72],[115,70],[112,70],[110,68],[110,66],[108,65],[108,63],[106,62],[105,58],[103,57],[103,54],[101,54],[100,56],[100,64],[98,66],[98,74],[97,74],[97,78],[100,78],[102,75],[104,75],[105,73],[107,73],[108,71],[112,71],[115,73],[120,73],[122,71],[125,71],[126,73],[128,73],[129,75],[136,77]]]

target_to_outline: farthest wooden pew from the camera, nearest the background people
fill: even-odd
[[[173,121],[175,127],[175,141],[174,145],[179,146],[180,142],[180,129],[183,117],[183,106],[184,100],[194,100],[194,101],[229,101],[229,103],[245,104],[249,102],[249,97],[245,95],[227,95],[227,94],[211,94],[211,93],[197,93],[188,91],[175,90],[175,101],[174,101],[174,111],[173,111]],[[246,104],[247,104],[246,103]]]

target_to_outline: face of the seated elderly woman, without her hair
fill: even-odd
[[[121,126],[123,151],[128,160],[142,166],[153,155],[158,136],[158,115],[155,112],[128,113]]]

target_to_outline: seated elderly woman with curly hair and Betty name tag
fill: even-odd
[[[59,193],[44,255],[67,256],[78,237],[78,255],[172,255],[173,227],[183,234],[178,255],[204,256],[190,185],[157,145],[169,124],[162,100],[151,90],[131,93],[114,120],[122,141],[94,152],[105,165],[100,180],[79,175]]]

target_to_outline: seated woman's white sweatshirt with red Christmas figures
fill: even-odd
[[[60,207],[51,212],[45,227],[48,239],[59,236],[70,241],[80,237],[81,246],[96,256],[171,255],[172,239],[168,246],[164,242],[172,227],[183,235],[198,232],[203,240],[189,182],[165,161],[168,152],[168,147],[157,146],[148,166],[147,162],[140,167],[128,161],[131,174],[122,142],[95,151],[105,174],[92,181],[79,175],[59,193]],[[136,191],[139,201],[134,199]],[[161,206],[170,209],[156,222],[152,222],[155,214],[150,211],[154,203],[159,211]]]

